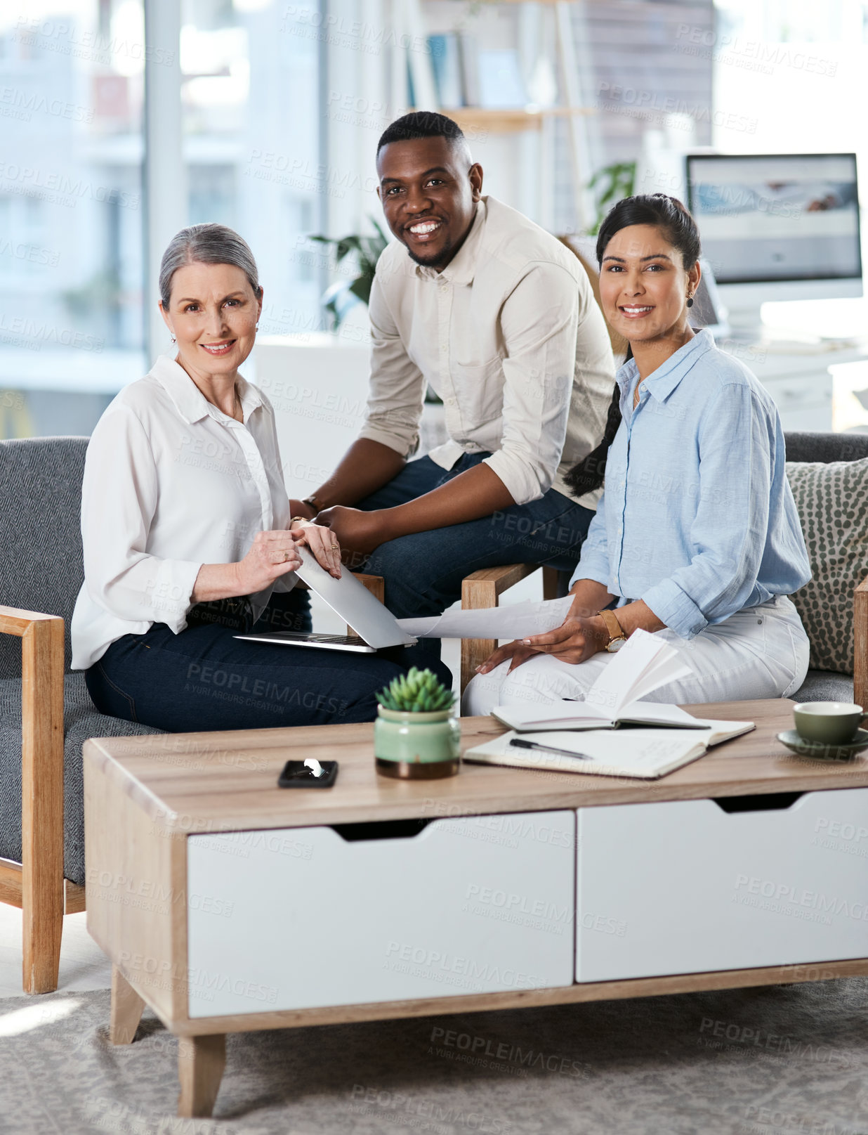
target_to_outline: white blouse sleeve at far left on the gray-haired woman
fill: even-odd
[[[127,621],[134,634],[154,622],[175,633],[184,630],[202,566],[148,554],[158,501],[157,466],[144,427],[129,407],[117,405],[102,417],[87,447],[84,578],[94,603]]]

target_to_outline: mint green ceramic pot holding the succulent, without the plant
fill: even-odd
[[[407,713],[377,707],[373,725],[377,772],[398,780],[454,776],[461,762],[461,725],[452,709]]]

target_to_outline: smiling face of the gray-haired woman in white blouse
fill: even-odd
[[[253,350],[262,296],[234,264],[183,264],[171,278],[168,311],[162,304],[160,311],[191,377],[234,377]]]

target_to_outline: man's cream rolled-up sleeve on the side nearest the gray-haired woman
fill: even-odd
[[[379,442],[408,457],[419,448],[425,384],[401,339],[379,276],[374,276],[371,287],[369,314],[371,380],[359,437]]]

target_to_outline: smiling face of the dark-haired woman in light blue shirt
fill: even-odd
[[[600,264],[602,313],[630,343],[683,337],[686,299],[699,286],[699,264],[684,268],[681,252],[655,225],[629,225],[606,245]]]

